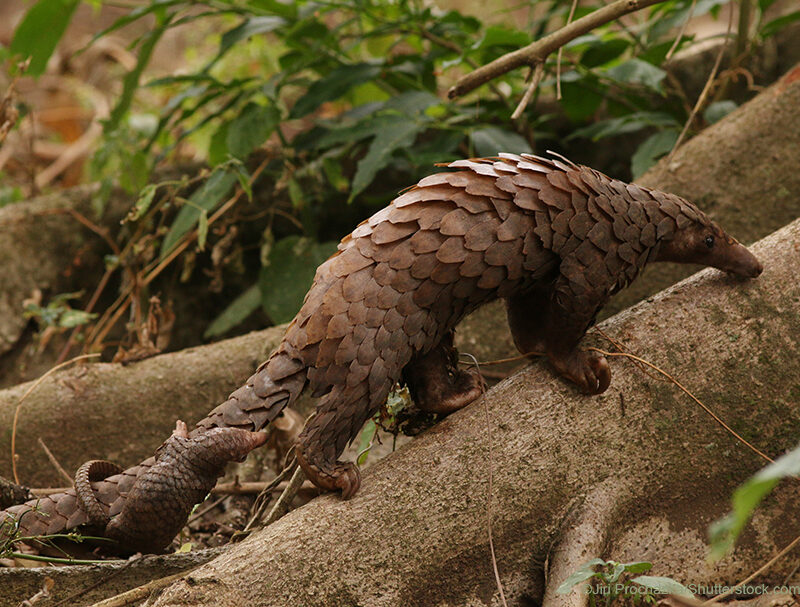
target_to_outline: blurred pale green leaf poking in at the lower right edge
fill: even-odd
[[[733,510],[711,525],[711,558],[719,559],[733,547],[761,500],[783,478],[800,474],[800,447],[762,468],[733,492]]]

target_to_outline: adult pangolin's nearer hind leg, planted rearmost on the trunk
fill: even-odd
[[[381,403],[386,401],[388,393],[388,388],[383,390]],[[375,396],[378,400],[380,395]],[[312,483],[329,491],[341,491],[344,499],[358,491],[361,486],[358,468],[338,458],[374,413],[365,382],[354,387],[334,386],[322,397],[295,443],[297,461]]]

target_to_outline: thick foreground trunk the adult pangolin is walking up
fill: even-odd
[[[755,247],[766,265],[759,279],[706,270],[602,325],[773,457],[800,430],[798,241],[800,220]],[[534,364],[376,464],[352,500],[314,500],[187,575],[156,605],[496,605],[490,469],[509,605],[542,596],[583,604],[585,595],[552,589],[594,556],[652,560],[654,575],[684,583],[732,583],[800,532],[792,514],[800,485],[787,482],[735,553],[708,565],[709,522],[765,462],[675,386],[611,364],[600,397],[576,394]],[[575,532],[582,527],[593,533]],[[791,568],[778,563],[760,581],[780,583]]]

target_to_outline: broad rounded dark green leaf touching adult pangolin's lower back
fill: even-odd
[[[317,266],[336,251],[335,242],[288,236],[276,242],[261,268],[261,305],[275,323],[290,321],[303,303]]]

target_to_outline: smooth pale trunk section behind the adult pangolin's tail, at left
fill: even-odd
[[[89,364],[48,377],[20,408],[20,482],[32,487],[64,484],[40,440],[70,472],[89,459],[127,466],[152,455],[176,419],[192,423],[224,401],[282,335],[283,327],[273,327],[131,365]],[[30,387],[0,391],[0,476],[6,478],[11,478],[14,415]]]

